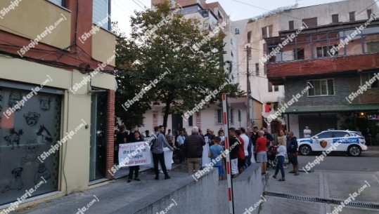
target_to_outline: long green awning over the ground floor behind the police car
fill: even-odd
[[[379,112],[379,103],[352,104],[352,105],[326,105],[326,106],[290,106],[284,114],[319,113],[319,112]]]

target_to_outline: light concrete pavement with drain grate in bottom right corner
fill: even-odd
[[[368,214],[379,213],[379,173],[317,170],[315,173],[300,173],[298,176],[288,173],[289,168],[285,169],[285,182],[280,182],[274,178],[274,169],[270,169],[267,175],[266,202],[262,204],[259,213],[332,213],[338,204],[313,202],[314,198],[319,199],[338,199],[345,201],[350,194],[359,192],[359,188],[366,186],[352,202],[370,203],[377,205],[373,208],[359,208],[345,206],[338,213]],[[277,176],[281,178],[281,175]],[[269,193],[287,194],[273,196]],[[286,196],[292,196],[291,199]],[[302,196],[302,197],[297,197]],[[329,201],[330,202],[330,201]]]

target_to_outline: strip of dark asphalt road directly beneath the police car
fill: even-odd
[[[299,169],[313,162],[321,153],[312,153],[309,156],[298,156]],[[291,167],[291,166],[290,166]],[[376,172],[379,171],[379,150],[362,152],[361,156],[347,156],[345,153],[331,153],[323,161],[316,164],[312,170],[347,170]]]

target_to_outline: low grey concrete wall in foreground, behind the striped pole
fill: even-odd
[[[129,210],[123,210],[123,212],[133,214],[160,213],[172,204],[175,213],[229,213],[226,180],[218,181],[217,170],[213,169],[210,173],[203,175],[198,182],[191,176],[188,176],[184,182],[183,186],[173,186],[171,189],[167,189],[167,192],[141,200],[141,203],[137,201],[133,207]],[[234,201],[235,213],[244,213],[245,209],[254,207],[255,203],[262,199],[260,197],[262,192],[260,165],[259,163],[252,163],[252,166],[238,178],[233,179],[233,198],[236,200]],[[251,213],[258,213],[258,209]]]

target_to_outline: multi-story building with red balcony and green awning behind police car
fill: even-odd
[[[278,36],[266,38],[266,53],[272,52],[266,70],[274,86],[284,85],[280,113],[295,135],[302,138],[304,126],[312,134],[378,133],[378,12],[375,1],[339,1],[279,15]]]

